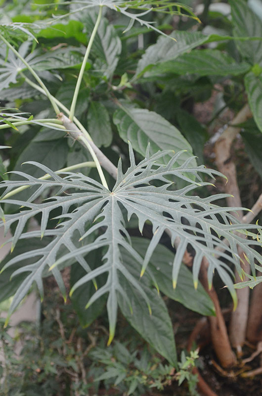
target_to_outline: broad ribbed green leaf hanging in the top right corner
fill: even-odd
[[[260,18],[250,9],[246,1],[229,0],[231,5],[233,33],[235,36],[262,37]],[[262,41],[237,42],[241,54],[252,63],[262,65]]]

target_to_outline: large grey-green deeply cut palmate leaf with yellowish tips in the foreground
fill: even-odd
[[[221,253],[221,256],[233,263],[238,272],[241,273],[240,257],[237,252],[238,245],[241,245],[251,263],[253,274],[255,274],[254,259],[256,258],[262,264],[262,257],[251,245],[260,245],[260,242],[243,239],[234,234],[236,230],[242,230],[242,232],[245,228],[251,230],[254,225],[241,224],[230,214],[234,209],[230,208],[229,212],[228,208],[219,207],[213,203],[213,201],[223,198],[225,195],[215,195],[203,199],[190,195],[196,187],[206,185],[201,179],[201,174],[212,176],[218,174],[218,172],[206,169],[204,166],[191,166],[190,158],[181,166],[174,168],[174,163],[178,160],[181,152],[174,155],[167,165],[163,165],[161,160],[165,155],[170,155],[170,151],[158,152],[151,156],[148,147],[145,159],[136,165],[130,145],[131,166],[126,173],[123,173],[121,160],[119,161],[118,178],[112,191],[82,174],[66,173],[65,177],[61,178],[44,165],[36,163],[36,166],[51,176],[50,180],[39,180],[22,172],[16,172],[19,177],[24,177],[23,181],[3,181],[0,183],[0,187],[5,189],[2,202],[18,207],[22,206],[22,210],[17,214],[5,216],[2,214],[1,216],[0,227],[4,226],[6,231],[12,225],[16,225],[11,250],[14,249],[19,239],[46,237],[49,241],[49,238],[52,237],[46,247],[35,250],[29,249],[26,253],[10,259],[4,265],[2,270],[20,262],[20,268],[16,269],[12,276],[27,273],[12,300],[9,315],[34,281],[38,285],[41,296],[43,296],[42,276],[48,267],[63,291],[64,286],[59,267],[70,265],[74,260],[84,268],[86,275],[76,282],[71,294],[78,287],[91,280],[96,284],[95,278],[107,274],[105,284],[92,295],[87,307],[99,297],[108,294],[107,311],[110,343],[115,332],[119,295],[125,299],[131,309],[131,300],[122,286],[121,277],[124,277],[136,289],[141,296],[140,298],[145,300],[149,312],[151,311],[150,300],[138,279],[127,269],[121,249],[125,249],[140,263],[142,276],[165,230],[168,230],[172,244],[174,244],[176,237],[180,238],[180,244],[176,249],[172,264],[174,288],[183,254],[187,246],[190,245],[195,251],[193,259],[195,286],[197,286],[200,264],[205,256],[209,261],[209,283],[212,283],[214,272],[217,270],[235,299],[233,283],[228,273],[228,271],[230,273],[232,271],[229,270],[224,261],[218,259],[215,248],[217,246],[224,247],[225,251]],[[190,174],[194,175],[195,182],[192,182],[186,176]],[[170,190],[170,186],[173,184],[168,180],[170,176],[183,179],[188,185],[177,191]],[[25,185],[35,187],[27,202],[8,198],[7,194],[13,188]],[[42,203],[33,203],[46,189],[55,191],[56,195]],[[48,218],[53,217],[52,213],[55,209],[57,213],[59,208],[61,214],[56,216],[57,227],[47,229]],[[131,246],[131,240],[125,228],[123,210],[127,213],[128,220],[132,215],[137,217],[140,232],[142,232],[146,221],[152,224],[153,238],[144,252],[143,258]],[[23,232],[27,221],[32,216],[40,214],[42,216],[41,230]],[[88,243],[87,237],[89,235],[93,235],[94,240]],[[254,235],[254,239],[256,237]],[[221,238],[226,238],[229,246],[223,243]],[[101,248],[105,249],[102,264],[91,270],[85,256],[90,251]],[[28,264],[27,260],[29,258],[34,258],[34,262]]]

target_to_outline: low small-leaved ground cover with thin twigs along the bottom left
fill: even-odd
[[[41,330],[22,323],[12,339],[3,330],[3,321],[0,323],[5,357],[5,363],[0,363],[0,374],[8,395],[62,396],[67,384],[70,395],[110,395],[113,390],[121,395],[142,396],[148,390],[162,391],[176,381],[182,382],[182,378],[190,395],[197,395],[192,374],[197,351],[191,351],[190,356],[182,352],[175,370],[137,338],[127,343],[125,336],[120,336],[120,341],[105,347],[103,326],[99,329],[94,325],[84,332],[70,305],[58,308],[54,301],[58,303],[55,292],[43,304]],[[125,334],[130,331],[125,323]],[[17,342],[23,343],[22,358],[13,353]]]

